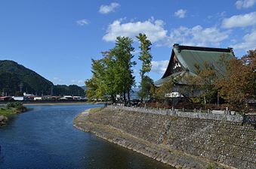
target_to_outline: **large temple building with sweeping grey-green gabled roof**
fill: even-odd
[[[155,82],[155,86],[161,86],[170,78],[177,78],[184,74],[197,76],[195,65],[204,68],[204,63],[208,62],[216,69],[217,74],[225,74],[226,68],[220,64],[221,59],[230,60],[234,58],[233,48],[212,48],[212,47],[192,47],[174,44],[171,51],[171,58],[160,80]],[[186,86],[186,81],[178,80],[174,84],[174,93],[179,92],[180,87]]]

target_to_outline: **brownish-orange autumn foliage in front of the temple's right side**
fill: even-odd
[[[228,104],[232,104],[239,110],[245,108],[248,99],[256,98],[256,50],[248,51],[241,59],[221,57],[218,67],[225,68],[219,72],[209,62],[203,67],[195,65],[196,75],[187,74],[184,80],[187,82],[187,91],[190,96],[193,92],[201,91],[199,98],[192,98],[194,102],[215,103],[217,93]]]

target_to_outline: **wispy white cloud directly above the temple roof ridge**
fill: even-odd
[[[230,31],[221,32],[216,27],[203,28],[202,26],[194,26],[187,28],[180,26],[178,29],[173,29],[164,41],[164,45],[172,45],[174,43],[191,45],[191,46],[214,46],[218,47],[221,41],[229,37]]]

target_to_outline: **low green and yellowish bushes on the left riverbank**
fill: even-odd
[[[0,108],[0,125],[5,125],[8,118],[16,113],[23,113],[27,109],[22,103],[8,103],[5,107]]]

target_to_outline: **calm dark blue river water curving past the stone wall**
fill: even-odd
[[[99,105],[36,105],[0,127],[0,168],[171,168],[72,126]]]

